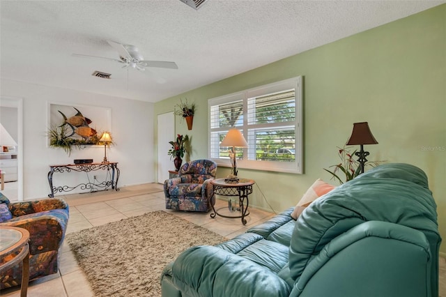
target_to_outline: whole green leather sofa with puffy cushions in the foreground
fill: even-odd
[[[380,165],[310,204],[164,268],[162,296],[438,296],[436,203],[426,174]]]

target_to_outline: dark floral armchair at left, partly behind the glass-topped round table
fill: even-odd
[[[0,226],[29,231],[29,280],[57,273],[68,217],[68,204],[63,199],[10,202],[0,193]],[[0,265],[9,260],[0,257]],[[0,275],[0,289],[21,282],[22,263]]]

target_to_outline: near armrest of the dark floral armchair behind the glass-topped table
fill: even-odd
[[[40,254],[58,250],[63,242],[68,224],[68,209],[52,209],[40,213],[21,215],[1,226],[20,227],[29,231],[29,252]]]

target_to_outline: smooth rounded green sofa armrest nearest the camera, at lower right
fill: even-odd
[[[421,231],[364,222],[325,245],[290,296],[430,296],[431,261]]]

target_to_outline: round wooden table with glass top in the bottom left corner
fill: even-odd
[[[5,259],[10,254],[19,252],[13,259]],[[29,232],[18,227],[0,227],[0,275],[22,261],[22,286],[20,297],[26,297],[29,281]]]

